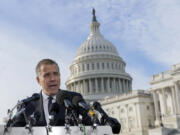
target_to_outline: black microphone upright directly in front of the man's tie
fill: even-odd
[[[50,106],[50,111],[49,111],[49,124],[51,126],[55,125],[55,118],[57,114],[59,113],[59,105],[58,103],[53,103]]]

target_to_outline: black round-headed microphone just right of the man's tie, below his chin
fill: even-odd
[[[66,92],[64,91],[59,91],[56,95],[56,102],[59,105],[64,105],[67,109],[72,109],[73,105],[70,101],[70,97]]]

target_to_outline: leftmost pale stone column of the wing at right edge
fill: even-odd
[[[157,93],[153,91],[153,99],[154,99],[154,107],[155,107],[155,125],[159,126],[161,123],[160,120],[160,112],[159,112],[159,106],[158,106],[158,100],[157,100]]]

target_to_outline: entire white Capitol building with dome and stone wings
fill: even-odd
[[[148,90],[132,90],[133,78],[116,47],[100,33],[95,16],[66,81],[68,90],[98,100],[121,123],[121,135],[180,135],[180,64],[153,75]]]

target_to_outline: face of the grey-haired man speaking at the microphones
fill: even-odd
[[[45,94],[51,96],[58,92],[60,87],[60,73],[55,64],[41,65],[37,82]]]

